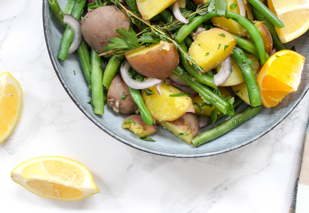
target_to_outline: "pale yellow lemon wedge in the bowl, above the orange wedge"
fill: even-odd
[[[285,26],[276,28],[282,43],[292,41],[309,29],[309,0],[269,0],[268,6]]]

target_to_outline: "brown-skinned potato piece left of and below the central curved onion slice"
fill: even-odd
[[[125,100],[121,98],[122,93],[125,93],[125,95],[127,95]],[[108,103],[108,106],[110,107],[112,107],[112,104],[110,101],[111,99],[119,101],[119,107],[116,107],[118,108],[119,112],[115,109],[115,107],[113,107],[113,110],[117,112],[118,114],[128,115],[138,110],[138,106],[133,101],[130,95],[128,86],[122,80],[119,73],[116,73],[108,89],[107,103]]]

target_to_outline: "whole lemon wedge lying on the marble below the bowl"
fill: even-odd
[[[44,198],[78,201],[99,192],[88,168],[76,160],[44,156],[20,163],[12,180]]]

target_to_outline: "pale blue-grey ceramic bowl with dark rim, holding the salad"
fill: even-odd
[[[66,7],[66,2],[66,0],[59,1],[63,10]],[[308,90],[309,73],[308,62],[306,60],[297,92],[287,95],[276,107],[270,109],[262,107],[262,111],[258,115],[213,141],[199,147],[193,147],[181,141],[178,137],[162,127],[158,128],[157,133],[150,136],[155,142],[143,141],[131,131],[122,129],[121,123],[125,116],[116,114],[107,105],[105,106],[104,115],[98,116],[93,113],[91,105],[87,103],[91,100],[91,92],[88,89],[87,81],[83,75],[78,55],[76,53],[69,55],[66,61],[57,59],[63,29],[52,15],[47,0],[43,1],[43,22],[51,62],[56,75],[72,101],[87,118],[104,132],[126,145],[149,153],[190,158],[210,156],[235,150],[255,141],[277,126],[297,106]],[[289,48],[295,46],[298,53],[308,57],[308,37],[309,33],[307,32],[298,39],[288,43],[287,46]],[[243,110],[245,107],[244,104],[238,110]],[[201,131],[209,128],[202,128]]]

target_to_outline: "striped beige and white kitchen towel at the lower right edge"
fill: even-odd
[[[309,213],[309,124],[289,213]]]

